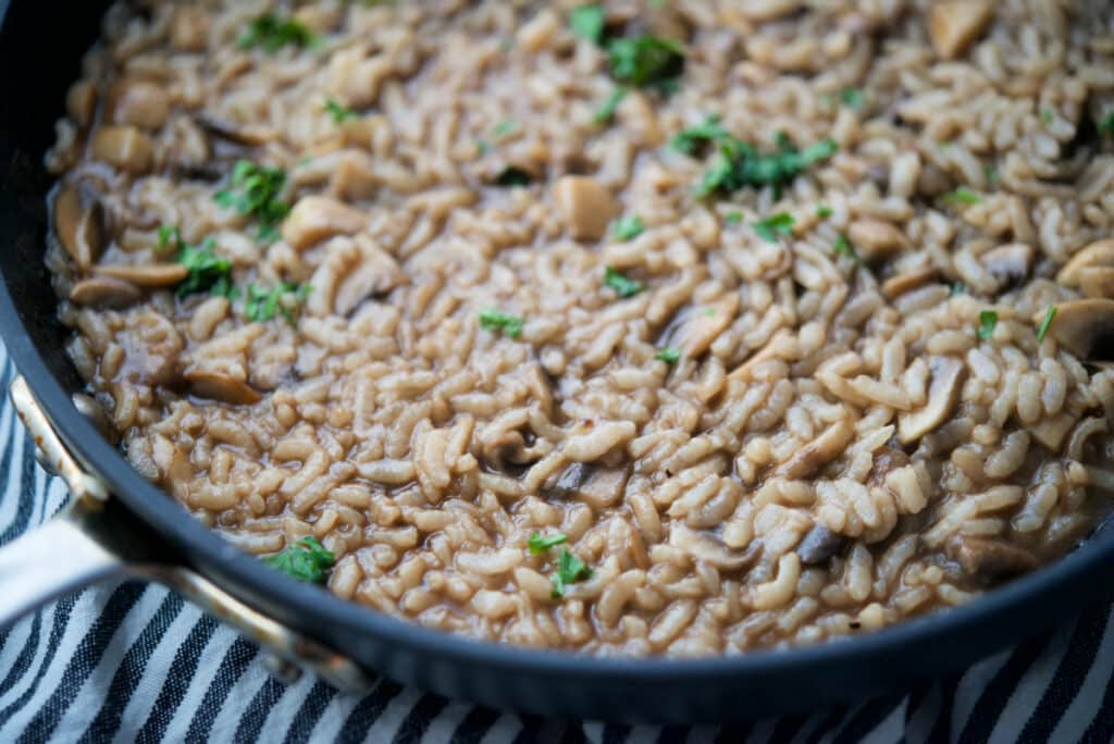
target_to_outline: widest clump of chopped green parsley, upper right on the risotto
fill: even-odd
[[[805,168],[827,160],[839,149],[834,140],[822,139],[800,150],[788,137],[778,138],[778,150],[759,153],[747,143],[730,137],[719,143],[720,154],[696,186],[696,196],[736,192],[744,186],[781,187]]]

